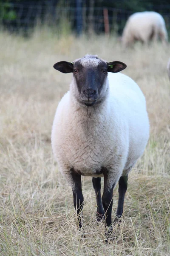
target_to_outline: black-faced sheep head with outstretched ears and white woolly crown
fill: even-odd
[[[88,107],[100,103],[104,98],[108,72],[117,73],[126,67],[123,62],[106,62],[97,55],[85,55],[74,63],[60,61],[54,64],[54,68],[62,73],[73,73],[75,97]]]

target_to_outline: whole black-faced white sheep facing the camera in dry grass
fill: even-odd
[[[92,177],[96,219],[105,219],[106,241],[114,238],[113,188],[119,181],[116,222],[123,213],[128,173],[142,156],[149,138],[144,95],[130,77],[118,73],[126,67],[123,62],[107,62],[97,55],[54,64],[54,69],[73,76],[54,117],[53,153],[59,171],[72,188],[79,229],[83,226],[84,203],[81,175]]]

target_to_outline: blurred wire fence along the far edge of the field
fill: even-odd
[[[99,34],[105,32],[104,9],[107,9],[109,32],[121,34],[127,18],[133,12],[111,7],[61,7],[57,6],[55,1],[36,4],[31,1],[1,3],[0,23],[10,31],[27,31],[37,23],[57,27],[59,23],[65,22],[69,24],[71,31],[93,31]],[[170,30],[170,5],[154,6],[154,11],[164,17],[167,29]]]

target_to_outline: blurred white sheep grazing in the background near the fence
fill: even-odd
[[[163,43],[167,43],[168,35],[164,18],[157,12],[136,12],[125,24],[122,44],[125,47],[131,46],[134,41],[148,44],[151,39],[157,41],[159,37]]]

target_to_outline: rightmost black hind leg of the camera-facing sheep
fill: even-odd
[[[128,175],[121,176],[119,179],[119,201],[118,201],[118,207],[116,211],[116,218],[114,222],[119,221],[119,219],[122,217],[122,214],[123,214],[123,204],[125,199],[125,193],[127,190],[127,180],[128,180]]]

